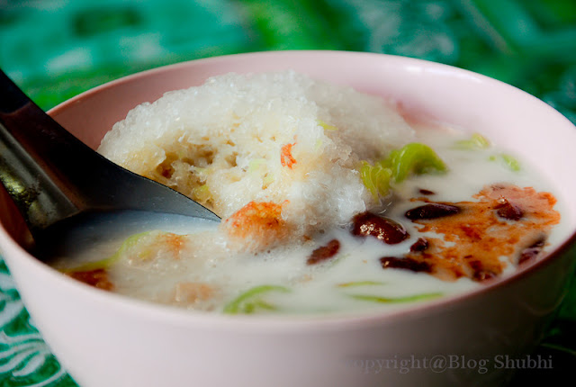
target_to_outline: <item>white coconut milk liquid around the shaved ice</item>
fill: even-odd
[[[130,225],[111,226],[109,235],[80,259],[85,262],[111,257],[130,234],[144,229],[161,229],[177,235],[152,233],[126,249],[112,265],[105,267],[112,290],[150,302],[211,312],[245,313],[333,313],[397,310],[414,302],[463,293],[482,286],[470,275],[446,275],[427,270],[383,268],[381,258],[402,258],[419,238],[442,237],[422,233],[421,224],[405,217],[405,212],[424,204],[410,198],[425,197],[432,202],[475,202],[473,195],[491,184],[514,184],[534,187],[537,192],[550,192],[545,178],[535,175],[525,160],[517,160],[519,170],[507,164],[509,155],[498,147],[462,149],[458,141],[470,134],[446,128],[419,128],[418,140],[427,143],[446,162],[446,174],[425,174],[410,177],[393,186],[394,198],[387,202],[383,216],[401,223],[410,234],[401,243],[386,244],[374,237],[358,237],[350,225],[335,226],[288,246],[280,246],[257,254],[229,247],[226,236],[213,223],[185,220],[166,224],[154,220],[149,224],[134,215]],[[509,160],[509,159],[508,159]],[[422,191],[424,190],[424,191]],[[422,193],[422,192],[426,192]],[[559,198],[560,199],[560,198]],[[556,204],[556,209],[562,203]],[[495,210],[493,210],[495,211]],[[148,220],[147,220],[148,221]],[[502,220],[514,223],[514,220]],[[545,251],[562,237],[563,223],[547,234]],[[132,229],[133,227],[133,229]],[[94,238],[83,230],[78,238]],[[112,238],[115,236],[116,238]],[[490,236],[489,234],[487,236]],[[485,237],[485,236],[482,236]],[[148,238],[148,239],[147,239]],[[313,251],[338,240],[338,252],[322,262],[308,265]],[[161,240],[159,245],[157,241]],[[526,242],[522,242],[526,245]],[[509,257],[500,257],[502,272],[496,277],[517,270],[518,248]],[[446,243],[446,247],[453,243]],[[160,247],[158,247],[160,246]],[[473,254],[473,251],[470,252]],[[540,259],[544,253],[531,261]],[[78,261],[62,259],[56,266],[78,266]],[[244,301],[242,294],[255,290]]]

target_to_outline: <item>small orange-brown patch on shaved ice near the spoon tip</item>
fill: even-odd
[[[284,203],[286,202],[288,201]],[[252,238],[260,246],[269,246],[282,241],[289,231],[286,221],[282,219],[284,203],[247,203],[226,220],[229,235],[242,239]]]

